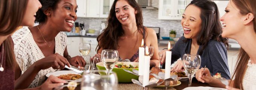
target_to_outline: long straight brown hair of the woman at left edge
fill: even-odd
[[[13,33],[20,26],[28,0],[0,0],[0,35],[5,36]],[[4,42],[6,65],[14,69],[17,66],[14,55],[12,37],[9,36]]]

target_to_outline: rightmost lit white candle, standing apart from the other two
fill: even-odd
[[[172,59],[172,51],[170,42],[168,43],[168,51],[166,51],[165,55],[165,79],[170,78],[171,75],[171,59]]]

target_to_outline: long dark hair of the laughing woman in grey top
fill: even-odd
[[[202,25],[201,31],[197,36],[197,44],[202,45],[202,48],[198,50],[199,55],[203,53],[211,39],[223,42],[228,47],[227,39],[221,36],[222,26],[219,22],[219,10],[216,3],[210,0],[193,0],[189,5],[197,6],[201,10],[200,18]],[[184,41],[188,40],[186,39]]]

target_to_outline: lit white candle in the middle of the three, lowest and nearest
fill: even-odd
[[[149,66],[150,66],[150,55],[148,52],[148,46],[145,48],[145,56],[144,56],[144,67],[143,67],[143,87],[149,84]]]

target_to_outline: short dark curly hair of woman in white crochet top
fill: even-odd
[[[44,14],[44,10],[47,10],[49,8],[55,10],[57,3],[60,0],[39,0],[42,4],[42,8],[37,11],[37,16],[35,19],[35,23],[43,23],[46,21],[46,15]]]

